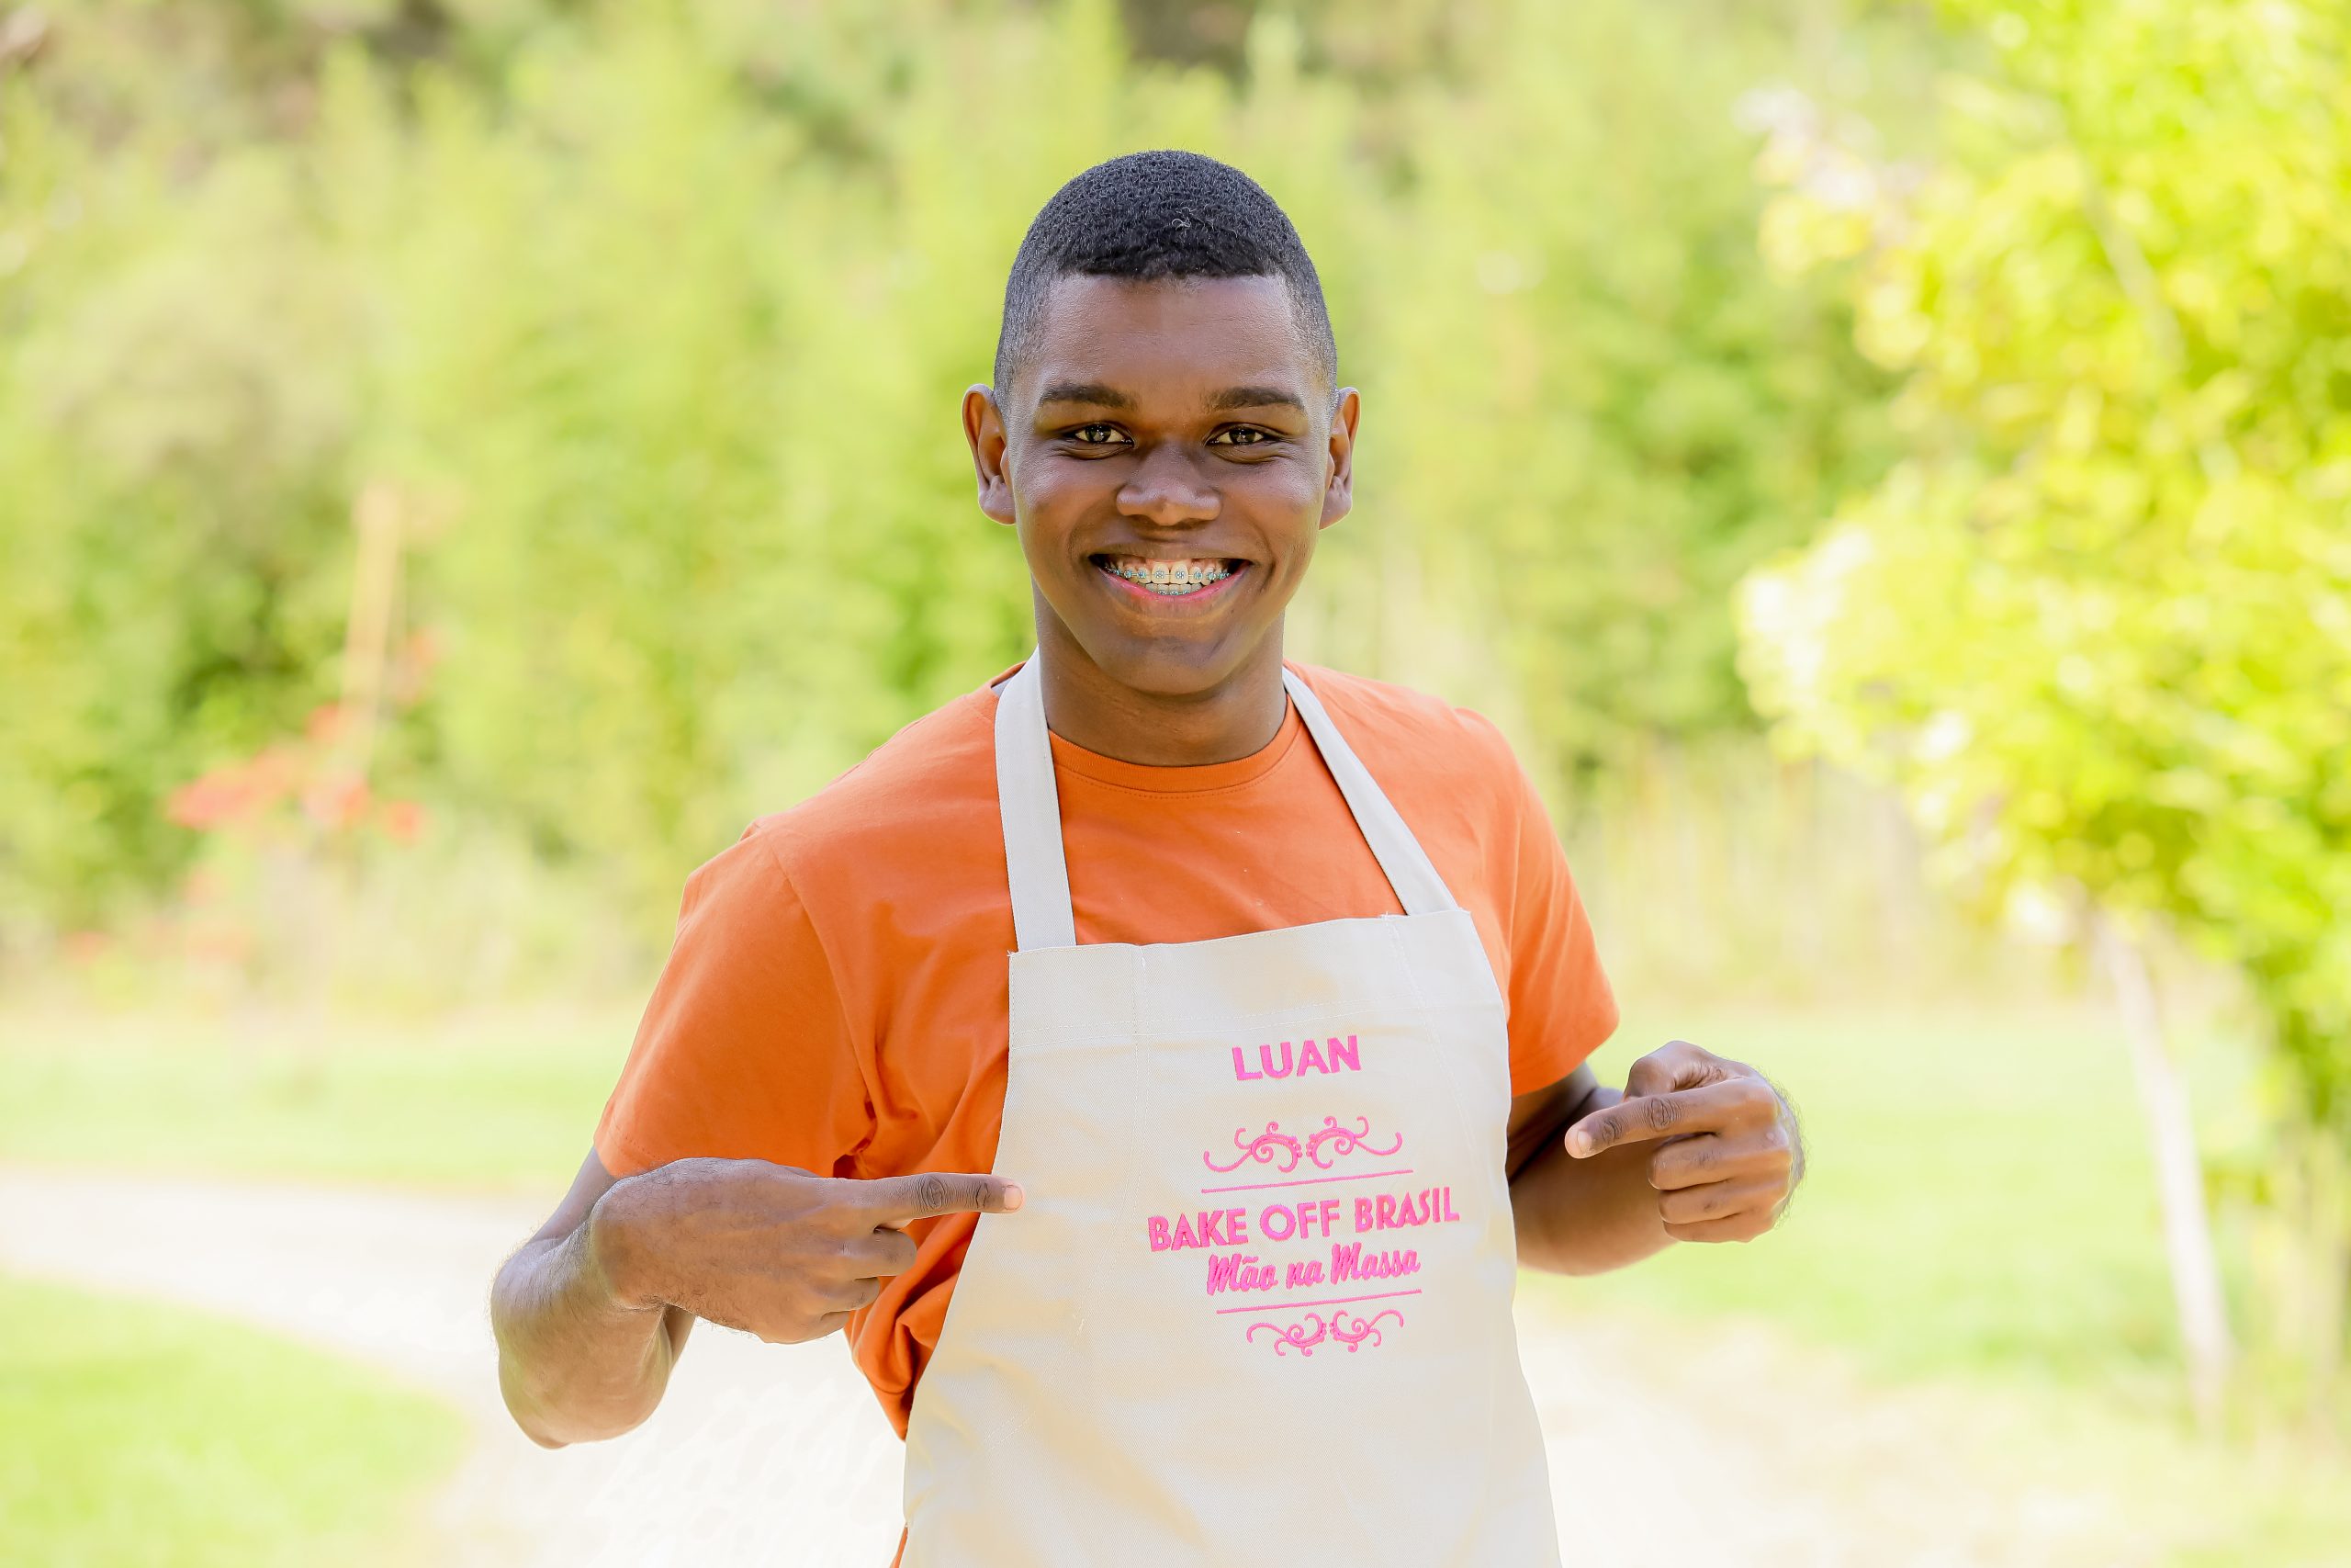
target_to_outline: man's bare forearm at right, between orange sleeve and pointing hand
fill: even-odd
[[[1566,1131],[1615,1105],[1592,1067],[1509,1103],[1509,1208],[1519,1262],[1547,1274],[1603,1274],[1672,1244],[1641,1145],[1573,1159]]]

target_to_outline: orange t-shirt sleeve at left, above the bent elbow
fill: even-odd
[[[755,825],[686,879],[597,1157],[614,1175],[696,1154],[839,1175],[870,1135],[872,1098],[823,943]]]

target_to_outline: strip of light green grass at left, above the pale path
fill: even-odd
[[[562,1192],[625,1016],[0,1018],[0,1159]]]

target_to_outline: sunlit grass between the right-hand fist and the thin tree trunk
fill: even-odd
[[[2067,1013],[1627,1018],[1594,1067],[1665,1039],[1796,1103],[1806,1180],[1773,1234],[1676,1244],[1568,1281],[1592,1305],[1747,1312],[1886,1375],[2144,1382],[2172,1366],[2156,1185],[2123,1041]]]

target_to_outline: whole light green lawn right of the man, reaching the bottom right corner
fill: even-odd
[[[1806,1180],[1751,1244],[1676,1244],[1592,1279],[1528,1279],[1561,1312],[1754,1319],[1864,1382],[1958,1387],[1987,1465],[2095,1476],[2172,1568],[2351,1563],[2351,1462],[2290,1434],[2191,1434],[2137,1084],[2095,1013],[1871,1009],[1627,1016],[1601,1081],[1681,1037],[1796,1103]],[[2233,1067],[2189,1053],[2201,1112]],[[2243,1281],[2238,1298],[2243,1300]]]

